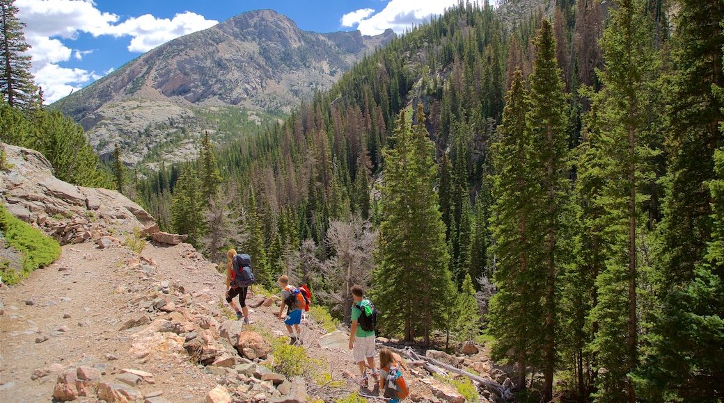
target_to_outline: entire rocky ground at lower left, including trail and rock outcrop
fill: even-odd
[[[54,264],[20,285],[0,283],[0,402],[335,402],[355,391],[382,402],[360,389],[344,329],[327,332],[309,319],[302,352],[287,347],[274,358],[270,342],[286,339],[278,297],[256,287],[248,298],[251,326],[230,320],[224,276],[179,243],[183,237],[156,232],[153,217],[116,191],[59,181],[38,152],[0,148],[7,157],[1,202],[64,244]],[[135,240],[140,228],[153,241],[141,241],[137,254],[124,241]],[[3,241],[0,233],[0,256],[20,267],[20,255]],[[377,343],[409,347],[383,338]],[[430,375],[442,374],[445,365],[447,373],[479,374],[480,402],[494,398],[490,391],[510,397],[509,369],[468,347],[454,357],[426,350],[423,360],[410,352],[406,357],[416,361],[408,360],[405,371],[410,399],[462,403],[454,388]],[[269,369],[284,373],[279,365],[290,354],[314,365],[295,378]]]

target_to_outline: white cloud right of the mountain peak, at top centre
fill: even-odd
[[[445,9],[458,5],[458,2],[459,0],[391,0],[381,12],[371,17],[362,17],[355,22],[358,23],[357,29],[362,35],[379,35],[387,28],[392,28],[400,34],[406,29],[411,30],[421,22],[429,21],[432,15],[442,14]],[[363,10],[355,13],[361,11]],[[345,14],[345,17],[350,14]],[[343,26],[351,27],[353,24]]]

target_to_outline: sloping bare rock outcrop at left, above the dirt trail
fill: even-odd
[[[75,186],[54,177],[40,152],[2,144],[7,170],[0,170],[0,197],[15,217],[61,244],[153,224],[153,217],[117,191]]]

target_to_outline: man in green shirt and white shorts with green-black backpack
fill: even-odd
[[[350,327],[350,350],[359,365],[362,376],[362,387],[369,388],[367,380],[367,368],[372,370],[374,379],[373,389],[379,386],[379,374],[374,365],[374,325],[376,322],[376,310],[369,300],[364,298],[364,291],[361,285],[353,285],[350,288],[352,298],[355,300],[352,306],[352,326]],[[365,360],[367,363],[365,364]]]

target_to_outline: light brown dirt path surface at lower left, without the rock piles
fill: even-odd
[[[138,256],[118,243],[109,248],[67,245],[51,266],[33,272],[21,285],[0,288],[0,402],[51,401],[56,375],[38,378],[38,371],[51,365],[88,365],[101,369],[104,380],[111,381],[122,368],[146,371],[156,382],[137,386],[143,394],[161,394],[169,402],[203,402],[221,378],[188,357],[168,362],[134,358],[129,353],[130,334],[142,328],[119,328],[140,314],[130,301],[145,292],[149,282],[180,284],[193,303],[219,311],[224,276],[186,244],[147,243],[141,255],[155,262],[153,273],[133,269]],[[282,321],[274,316],[278,310],[252,309],[252,323],[272,334],[285,334]],[[304,326],[308,356],[324,358],[334,378],[357,373],[346,342],[319,347],[323,334],[309,322]],[[96,399],[82,397],[78,402]]]

